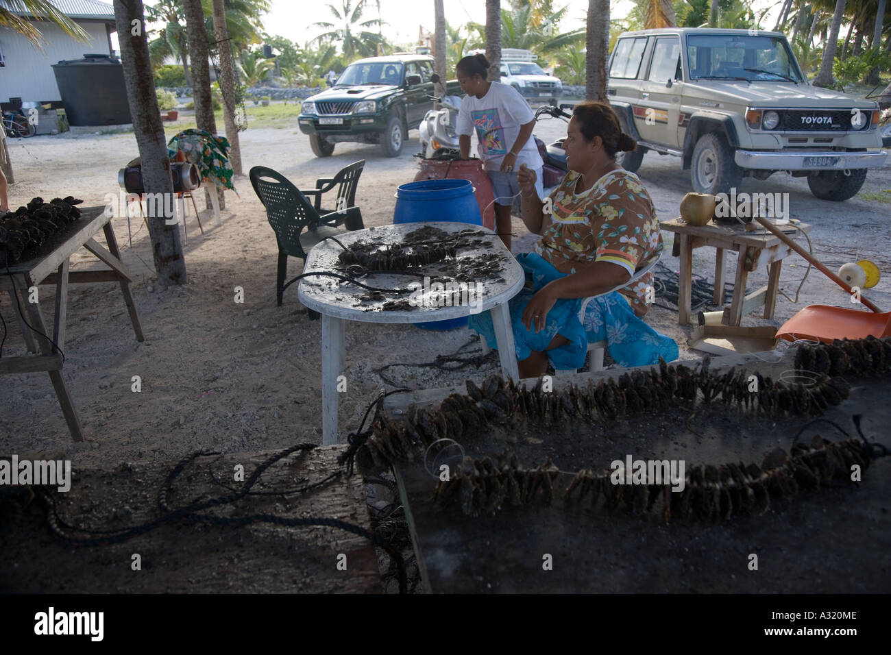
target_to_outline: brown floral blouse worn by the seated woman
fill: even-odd
[[[542,238],[535,252],[561,273],[574,274],[597,261],[622,266],[629,274],[662,251],[662,236],[650,194],[634,173],[618,169],[592,187],[576,193],[581,175],[570,171],[551,193],[552,214],[544,215]],[[653,274],[619,290],[644,315],[652,294]]]

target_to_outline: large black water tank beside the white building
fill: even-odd
[[[124,67],[109,54],[53,64],[61,102],[72,126],[132,123]]]

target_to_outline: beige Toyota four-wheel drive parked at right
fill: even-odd
[[[787,171],[817,198],[845,201],[886,158],[879,104],[811,86],[779,32],[625,32],[607,94],[639,144],[622,166],[637,170],[647,151],[675,155],[701,193]]]

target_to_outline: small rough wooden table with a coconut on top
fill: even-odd
[[[764,229],[746,232],[742,225],[690,225],[681,218],[661,221],[659,227],[674,232],[672,255],[681,258],[681,273],[678,278],[677,322],[681,325],[691,319],[691,284],[693,276],[693,249],[701,246],[715,248],[715,305],[723,305],[723,254],[724,250],[739,253],[736,265],[736,280],[733,282],[731,306],[724,309],[723,323],[739,325],[742,316],[764,305],[764,318],[772,318],[776,307],[777,290],[780,288],[782,260],[794,250]],[[803,232],[810,232],[813,225],[798,223]],[[796,227],[783,228],[784,233],[797,233]],[[746,295],[748,274],[758,266],[770,266],[767,286]]]

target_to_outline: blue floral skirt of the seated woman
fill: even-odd
[[[556,370],[578,369],[584,366],[588,343],[603,340],[608,343],[609,356],[619,366],[658,364],[660,356],[666,362],[677,359],[678,348],[674,340],[656,332],[638,318],[618,291],[591,300],[585,309],[584,321],[578,319],[582,299],[560,299],[548,312],[544,330],[527,330],[520,317],[529,300],[545,284],[565,277],[566,274],[560,273],[536,253],[517,255],[517,261],[526,271],[527,280],[531,279],[535,284],[533,291],[524,289],[509,302],[518,361],[526,359],[533,350],[538,350],[547,354]],[[470,315],[469,325],[471,330],[476,330],[486,338],[490,348],[497,348],[495,328],[489,312]],[[565,337],[569,341],[568,345],[548,350],[548,345],[557,334]]]

